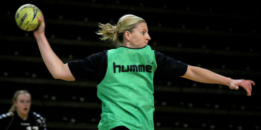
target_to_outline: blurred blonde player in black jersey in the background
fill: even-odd
[[[30,112],[31,94],[28,91],[16,91],[12,101],[9,112],[0,115],[0,130],[46,130],[43,117]]]

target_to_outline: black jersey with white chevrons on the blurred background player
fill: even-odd
[[[46,130],[43,117],[35,112],[29,112],[27,120],[23,120],[16,112],[0,115],[0,130]]]

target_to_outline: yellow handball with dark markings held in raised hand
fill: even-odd
[[[15,21],[22,30],[32,31],[40,25],[38,16],[42,16],[42,12],[38,7],[33,4],[25,4],[18,8],[15,13]]]

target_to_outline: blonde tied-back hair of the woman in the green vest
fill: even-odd
[[[138,16],[128,14],[122,16],[119,20],[117,25],[111,25],[109,23],[107,24],[101,24],[99,23],[99,29],[98,32],[96,32],[98,35],[101,35],[101,40],[108,39],[113,44],[117,44],[117,47],[121,45],[123,42],[123,34],[126,31],[132,32],[132,30],[136,27],[139,23],[146,23],[146,21]]]

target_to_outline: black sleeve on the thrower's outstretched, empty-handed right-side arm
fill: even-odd
[[[155,75],[183,76],[187,72],[188,64],[170,58],[163,53],[157,51],[154,52],[157,62]]]

